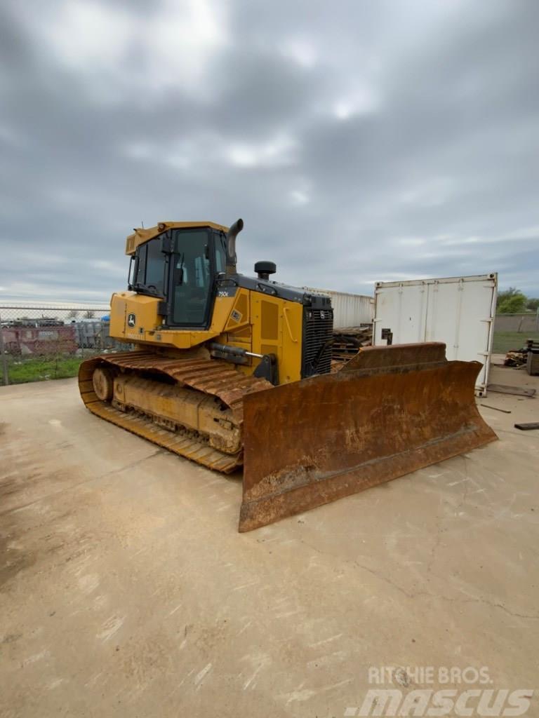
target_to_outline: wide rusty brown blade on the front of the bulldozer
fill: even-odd
[[[474,401],[482,364],[442,343],[369,347],[338,373],[244,398],[240,531],[497,439]]]

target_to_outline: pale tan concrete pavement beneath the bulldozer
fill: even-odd
[[[0,388],[1,715],[340,717],[372,666],[535,688],[539,432],[512,424],[539,400],[481,401],[512,411],[482,409],[499,442],[239,534],[239,477],[100,421],[74,380]]]

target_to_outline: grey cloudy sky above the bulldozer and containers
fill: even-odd
[[[124,238],[241,216],[239,267],[539,296],[535,0],[4,0],[0,299],[107,300]]]

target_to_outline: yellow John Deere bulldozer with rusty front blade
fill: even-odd
[[[325,294],[236,267],[243,228],[160,222],[126,240],[128,286],[111,298],[126,351],[85,360],[96,416],[180,457],[243,470],[250,531],[496,439],[474,400],[481,363],[443,343],[367,347],[332,367]]]

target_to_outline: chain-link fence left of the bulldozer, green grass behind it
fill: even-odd
[[[1,384],[76,376],[83,358],[125,348],[108,304],[0,304]]]

